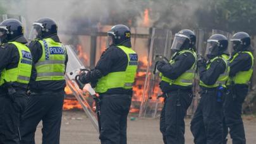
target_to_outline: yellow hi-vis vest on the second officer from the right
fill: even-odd
[[[215,61],[216,59],[222,59],[224,61],[224,63],[226,64],[226,69],[224,71],[224,73],[222,73],[221,75],[219,75],[219,78],[217,78],[217,81],[214,83],[214,85],[206,85],[203,81],[200,80],[199,85],[202,87],[207,87],[207,88],[216,88],[218,87],[220,84],[222,85],[222,87],[226,87],[226,81],[228,80],[228,75],[229,75],[229,63],[228,63],[228,56],[226,54],[222,54],[221,56],[217,56],[214,57],[213,59],[210,60],[210,63],[207,64],[207,68],[210,68],[210,64]]]

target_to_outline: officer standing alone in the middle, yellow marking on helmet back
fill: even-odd
[[[107,49],[95,69],[80,76],[82,83],[95,87],[101,97],[102,144],[126,144],[127,116],[138,56],[131,49],[131,32],[115,25],[107,32]]]

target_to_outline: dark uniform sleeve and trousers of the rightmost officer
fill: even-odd
[[[252,57],[243,52],[230,63],[229,76],[233,77],[239,71],[248,71],[252,68]],[[243,120],[241,119],[242,104],[248,93],[247,84],[236,84],[233,86],[233,92],[236,98],[230,92],[231,86],[228,87],[229,95],[224,100],[224,138],[228,135],[228,128],[233,143],[245,143],[245,129],[243,128]],[[226,143],[226,140],[224,140]]]

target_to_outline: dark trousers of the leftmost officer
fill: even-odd
[[[20,119],[28,100],[24,93],[17,92],[14,101],[0,93],[0,144],[20,143]]]

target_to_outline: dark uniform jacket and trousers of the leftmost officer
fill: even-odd
[[[26,44],[25,39],[16,39],[16,42]],[[0,75],[3,69],[17,68],[20,54],[14,44],[0,46]],[[16,93],[11,98],[5,85],[0,86],[0,144],[20,143],[18,129],[20,127],[21,114],[27,105],[27,85],[13,83]]]

